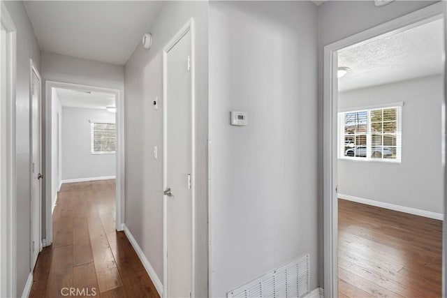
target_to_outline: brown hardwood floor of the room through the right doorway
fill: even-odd
[[[441,297],[441,221],[338,202],[339,297]]]

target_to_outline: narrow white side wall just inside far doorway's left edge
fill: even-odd
[[[58,124],[59,118],[59,124]],[[62,107],[59,101],[59,96],[54,88],[51,90],[51,198],[52,198],[52,208],[56,203],[57,192],[59,191],[59,186],[61,184],[61,127],[62,127]],[[59,126],[59,127],[58,127]]]

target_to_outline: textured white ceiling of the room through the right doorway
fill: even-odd
[[[338,65],[351,70],[338,80],[339,91],[443,73],[443,29],[437,20],[340,50]]]

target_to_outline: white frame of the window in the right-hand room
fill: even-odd
[[[402,163],[402,106],[404,103],[388,103],[383,105],[370,105],[366,107],[354,107],[344,110],[339,110],[338,112],[338,130],[337,130],[337,156],[339,159],[349,160],[349,161],[372,161],[379,163]],[[384,109],[397,109],[397,131],[396,131],[396,158],[372,158],[372,133],[371,133],[371,111],[372,110],[384,110]],[[345,156],[344,155],[344,114],[348,112],[367,112],[367,155],[366,157],[360,156]],[[383,134],[383,133],[382,133]],[[384,147],[384,145],[382,144]]]

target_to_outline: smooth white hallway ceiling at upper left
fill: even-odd
[[[162,1],[25,1],[41,50],[124,65]]]

